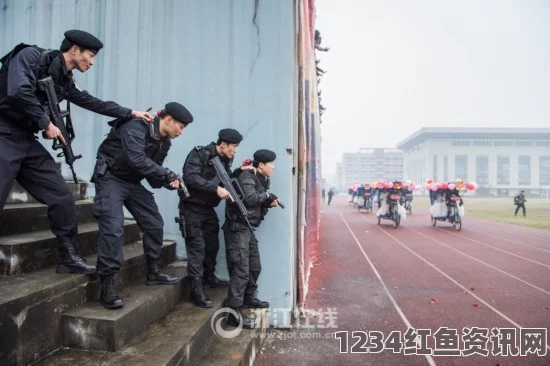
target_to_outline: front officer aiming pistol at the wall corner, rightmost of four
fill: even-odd
[[[253,166],[256,169],[238,174],[243,190],[243,203],[248,211],[248,221],[253,227],[260,226],[270,207],[278,206],[277,196],[269,193],[269,177],[275,168],[276,154],[270,150],[254,153]],[[227,269],[229,270],[229,291],[226,305],[233,310],[227,324],[243,328],[255,328],[255,322],[242,313],[242,308],[268,308],[269,303],[255,296],[258,277],[262,270],[258,240],[244,221],[237,206],[227,202],[226,219],[223,224]]]

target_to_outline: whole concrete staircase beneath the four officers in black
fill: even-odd
[[[81,254],[95,263],[97,223],[86,184],[69,183],[77,202]],[[187,301],[186,262],[176,243],[162,248],[166,271],[183,278],[170,286],[147,286],[139,227],[125,222],[124,265],[118,289],[124,308],[97,301],[97,276],[56,274],[57,249],[46,207],[14,186],[0,216],[0,365],[237,365],[252,364],[267,327],[266,311],[254,316],[260,328],[234,338],[217,335],[213,324],[226,289],[206,289],[214,301],[199,309]],[[222,327],[227,328],[221,323]]]

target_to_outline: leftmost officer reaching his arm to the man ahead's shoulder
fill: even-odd
[[[76,207],[54,159],[37,141],[40,130],[48,139],[63,137],[43,107],[45,94],[37,81],[51,76],[57,98],[111,117],[152,119],[149,113],[132,111],[80,90],[73,70],[86,72],[103,44],[93,35],[65,32],[60,51],[20,44],[1,59],[0,69],[0,213],[13,181],[48,206],[50,228],[58,240],[58,273],[95,273],[95,266],[78,256]]]

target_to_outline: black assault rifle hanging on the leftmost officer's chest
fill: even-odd
[[[71,143],[75,137],[73,122],[71,121],[71,113],[68,110],[62,111],[59,107],[59,102],[57,101],[57,95],[55,94],[54,83],[51,76],[38,80],[38,88],[46,93],[50,120],[57,128],[59,128],[61,135],[65,139],[65,143],[62,143],[59,139],[55,139],[53,141],[52,148],[54,150],[63,150],[57,154],[57,157],[65,157],[65,163],[67,163],[73,173],[74,182],[78,183],[78,178],[76,177],[73,164],[77,159],[80,159],[82,155],[75,156],[71,146]],[[46,137],[46,133],[42,132],[42,136]]]

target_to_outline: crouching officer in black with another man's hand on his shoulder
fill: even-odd
[[[176,189],[179,180],[162,163],[171,139],[180,136],[193,116],[179,103],[168,103],[153,123],[141,118],[120,119],[97,151],[92,182],[96,197],[93,212],[99,222],[97,272],[101,279],[100,301],[108,309],[123,306],[115,288],[115,274],[123,262],[123,206],[134,216],[143,232],[147,258],[146,284],[167,285],[179,281],[163,272],[161,247],[164,222],[153,194],[141,185],[146,178],[151,187]]]

